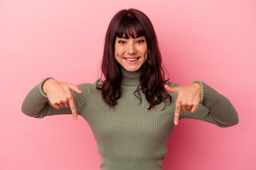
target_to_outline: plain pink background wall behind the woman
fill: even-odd
[[[255,0],[1,0],[0,169],[99,170],[101,157],[82,117],[36,119],[20,108],[47,76],[94,82],[112,16],[132,7],[152,21],[170,81],[204,81],[229,98],[240,118],[230,128],[181,120],[168,140],[164,170],[256,169]]]

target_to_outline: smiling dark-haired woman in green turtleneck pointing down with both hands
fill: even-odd
[[[47,77],[22,103],[22,112],[35,118],[85,118],[98,144],[101,170],[162,170],[167,139],[182,118],[220,127],[238,123],[229,100],[205,83],[180,87],[164,81],[157,37],[141,11],[121,10],[112,18],[101,70],[103,81],[77,86]]]

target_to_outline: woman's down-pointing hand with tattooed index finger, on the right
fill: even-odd
[[[174,124],[177,125],[180,117],[180,110],[185,113],[191,111],[195,113],[201,101],[201,85],[192,83],[182,87],[169,87],[164,85],[167,91],[177,93],[175,103]]]

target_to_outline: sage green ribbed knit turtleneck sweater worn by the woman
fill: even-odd
[[[166,142],[173,127],[177,94],[170,92],[171,105],[164,102],[148,110],[144,95],[139,99],[133,94],[139,85],[140,70],[128,72],[122,68],[122,95],[115,108],[107,105],[96,83],[78,85],[83,91],[72,91],[78,115],[90,125],[102,157],[101,170],[162,170],[166,156]],[[70,108],[55,109],[44,94],[42,85],[47,77],[36,85],[22,103],[22,112],[27,116],[72,114]],[[207,121],[220,127],[238,123],[238,114],[229,100],[202,81],[201,103],[196,113],[181,113],[180,119],[192,118]],[[193,82],[194,83],[194,82]],[[171,87],[179,87],[171,84]]]

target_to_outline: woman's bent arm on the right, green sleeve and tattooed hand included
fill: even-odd
[[[182,118],[207,121],[220,127],[238,124],[238,113],[231,102],[215,89],[202,81],[193,81],[191,85],[165,85],[169,92],[174,92],[176,99],[174,124]]]

